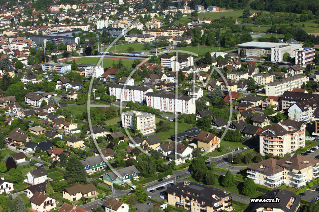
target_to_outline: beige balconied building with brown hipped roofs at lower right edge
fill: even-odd
[[[281,160],[270,158],[247,168],[247,177],[257,184],[276,188],[286,183],[302,187],[307,181],[318,177],[319,161],[292,153]]]

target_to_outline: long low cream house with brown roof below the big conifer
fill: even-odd
[[[62,195],[64,199],[74,202],[80,200],[81,197],[92,198],[97,195],[96,190],[97,188],[92,183],[86,185],[77,184],[75,186],[65,188],[62,191]]]

